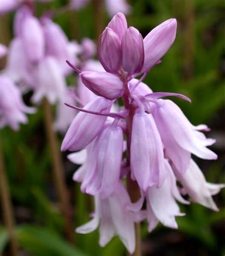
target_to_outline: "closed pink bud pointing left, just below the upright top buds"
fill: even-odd
[[[120,98],[124,93],[121,79],[108,72],[83,71],[80,78],[96,95],[107,99]]]

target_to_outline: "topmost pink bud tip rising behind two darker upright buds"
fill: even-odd
[[[107,27],[113,30],[121,41],[124,32],[127,30],[127,20],[125,15],[122,12],[118,12],[114,15]]]

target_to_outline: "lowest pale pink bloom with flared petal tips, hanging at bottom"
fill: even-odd
[[[99,226],[100,246],[105,246],[115,235],[132,254],[135,249],[135,216],[127,210],[131,205],[130,197],[122,182],[117,184],[113,195],[101,200],[95,196],[95,212],[91,221],[76,228],[76,232],[87,234]]]

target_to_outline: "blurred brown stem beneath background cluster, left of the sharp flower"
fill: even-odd
[[[53,117],[51,106],[47,98],[44,98],[43,100],[43,108],[45,116],[46,135],[51,154],[51,164],[55,179],[55,186],[59,197],[60,208],[64,217],[66,237],[71,243],[74,243],[74,230],[71,220],[72,208],[69,203],[69,195],[66,189],[66,184],[64,182],[64,168],[61,160],[61,154],[59,151],[59,145],[57,143],[56,132],[53,130]]]

